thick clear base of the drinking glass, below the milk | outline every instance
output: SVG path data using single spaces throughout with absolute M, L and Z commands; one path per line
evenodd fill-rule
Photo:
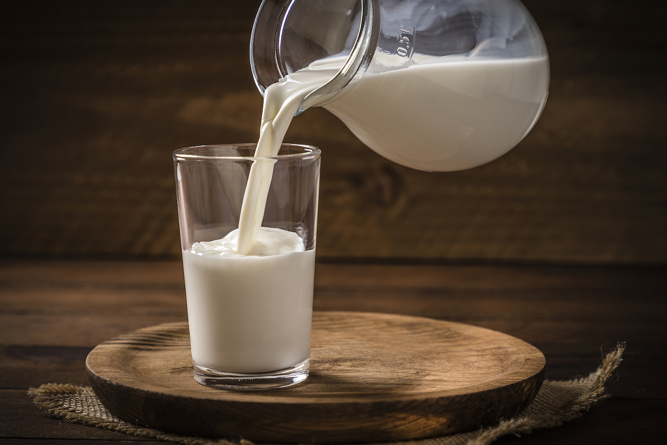
M 303 382 L 310 371 L 310 358 L 291 368 L 265 374 L 233 374 L 206 368 L 196 362 L 192 362 L 192 369 L 195 372 L 195 380 L 203 386 L 222 390 L 270 390 Z

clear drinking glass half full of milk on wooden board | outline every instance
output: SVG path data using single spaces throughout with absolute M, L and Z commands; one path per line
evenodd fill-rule
M 275 156 L 253 157 L 255 147 L 173 153 L 194 376 L 214 388 L 282 388 L 309 372 L 320 151 L 283 144 Z M 247 187 L 253 164 L 268 171 L 268 193 Z M 266 200 L 263 218 L 239 254 L 241 207 L 251 198 Z

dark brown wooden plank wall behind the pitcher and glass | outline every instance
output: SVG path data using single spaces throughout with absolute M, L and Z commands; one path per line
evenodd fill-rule
M 525 2 L 552 63 L 532 133 L 468 171 L 395 165 L 311 109 L 320 261 L 665 264 L 664 2 Z M 177 258 L 171 151 L 255 141 L 253 1 L 21 1 L 0 14 L 0 254 Z

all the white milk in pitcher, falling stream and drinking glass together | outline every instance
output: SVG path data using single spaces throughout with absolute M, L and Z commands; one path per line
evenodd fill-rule
M 548 61 L 546 57 L 450 60 L 364 77 L 326 108 L 346 122 L 362 141 L 382 147 L 385 152 L 381 153 L 390 159 L 401 159 L 405 149 L 419 144 L 422 151 L 426 148 L 424 152 L 432 153 L 431 158 L 421 159 L 425 162 L 436 163 L 439 157 L 460 153 L 468 162 L 484 163 L 489 160 L 484 147 L 490 147 L 492 153 L 499 144 L 512 147 L 532 127 L 530 117 L 538 113 L 546 99 L 540 82 L 548 78 Z M 266 89 L 256 159 L 249 171 L 239 228 L 221 240 L 195 243 L 191 250 L 183 252 L 185 279 L 192 296 L 188 298 L 191 336 L 202 333 L 201 339 L 193 342 L 199 345 L 192 350 L 197 363 L 253 373 L 294 366 L 309 355 L 311 298 L 303 296 L 312 296 L 315 251 L 306 251 L 297 234 L 263 228 L 261 221 L 275 163 L 271 156 L 277 154 L 303 98 L 331 79 L 342 63 L 344 58 L 317 61 Z M 516 82 L 504 91 L 494 89 L 508 75 Z M 378 89 L 387 85 L 394 87 L 398 99 L 406 104 L 404 110 L 392 107 L 396 97 L 383 98 L 378 94 Z M 455 119 L 454 115 L 458 117 Z M 382 131 L 368 132 L 369 125 L 376 130 L 386 125 L 403 125 L 414 131 L 406 131 L 404 137 L 383 138 Z M 419 128 L 424 125 L 436 125 L 438 131 L 420 133 Z M 474 147 L 466 151 L 466 145 Z M 236 282 L 253 280 L 256 292 L 231 302 L 245 310 L 219 308 L 230 304 L 217 298 L 223 292 L 221 286 L 229 293 Z M 277 280 L 289 283 L 283 286 L 285 292 L 280 296 L 275 295 L 273 286 Z M 255 310 L 275 301 L 283 304 L 274 311 Z M 211 320 L 211 314 L 239 313 L 251 314 L 252 320 L 219 316 Z M 260 314 L 265 316 L 258 320 Z M 263 326 L 273 332 L 271 342 L 256 341 L 259 334 L 249 326 Z M 207 328 L 215 328 L 218 335 L 203 334 L 210 332 Z M 245 334 L 240 336 L 240 332 Z M 239 338 L 245 340 L 240 342 Z M 285 338 L 303 341 L 290 343 Z M 220 342 L 225 342 L 224 348 Z M 258 344 L 262 345 L 261 351 L 257 350 Z

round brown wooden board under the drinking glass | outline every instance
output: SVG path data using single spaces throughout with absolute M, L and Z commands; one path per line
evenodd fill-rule
M 467 324 L 314 312 L 310 376 L 278 390 L 197 384 L 187 323 L 144 328 L 91 351 L 89 382 L 141 426 L 259 442 L 354 443 L 453 434 L 514 416 L 544 380 L 544 355 Z

